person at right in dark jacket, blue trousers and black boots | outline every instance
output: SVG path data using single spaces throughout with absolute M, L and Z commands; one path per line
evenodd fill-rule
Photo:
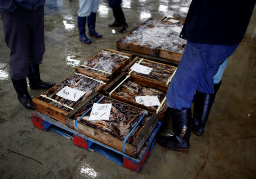
M 191 128 L 203 133 L 207 120 L 202 115 L 203 105 L 214 99 L 213 76 L 242 41 L 254 6 L 255 0 L 192 0 L 180 33 L 187 46 L 167 91 L 166 120 L 172 121 L 174 135 L 156 139 L 163 148 L 187 151 Z M 195 92 L 200 93 L 194 99 L 200 108 L 194 110 L 192 118 Z

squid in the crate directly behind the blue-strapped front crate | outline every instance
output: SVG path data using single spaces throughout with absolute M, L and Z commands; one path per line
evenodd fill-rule
M 138 83 L 132 82 L 131 80 L 126 80 L 124 83 L 121 84 L 113 92 L 113 94 L 122 96 L 123 98 L 129 99 L 131 101 L 135 101 L 136 96 L 158 96 L 160 103 L 163 101 L 164 97 L 166 96 L 166 92 L 157 90 L 151 87 L 144 87 Z M 150 106 L 151 108 L 157 109 L 158 106 Z

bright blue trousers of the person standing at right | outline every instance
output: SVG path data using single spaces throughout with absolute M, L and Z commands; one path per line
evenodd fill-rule
M 237 46 L 187 41 L 183 57 L 168 87 L 167 105 L 179 110 L 188 109 L 195 91 L 213 93 L 213 76 Z

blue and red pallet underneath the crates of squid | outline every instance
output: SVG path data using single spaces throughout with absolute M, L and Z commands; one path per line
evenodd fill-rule
M 31 121 L 35 127 L 38 127 L 41 130 L 53 130 L 56 133 L 63 135 L 65 138 L 73 140 L 77 146 L 83 147 L 90 151 L 99 152 L 100 154 L 105 155 L 108 159 L 134 172 L 141 171 L 145 160 L 149 156 L 152 147 L 154 146 L 156 133 L 161 125 L 161 122 L 157 123 L 155 129 L 152 131 L 150 137 L 148 137 L 137 157 L 131 157 L 121 151 L 107 146 L 104 143 L 98 142 L 97 140 L 79 133 L 78 131 L 67 127 L 64 123 L 54 120 L 43 113 L 33 112 L 31 114 Z

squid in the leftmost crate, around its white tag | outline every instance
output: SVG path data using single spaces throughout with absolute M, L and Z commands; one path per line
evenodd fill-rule
M 52 87 L 50 90 L 48 90 L 43 95 L 46 95 L 47 97 L 49 97 L 53 100 L 59 101 L 61 104 L 68 105 L 71 108 L 76 108 L 77 105 L 84 102 L 86 100 L 86 98 L 89 97 L 93 92 L 100 90 L 100 88 L 103 85 L 104 84 L 101 84 L 100 82 L 97 82 L 95 80 L 86 78 L 81 75 L 73 74 L 72 76 L 69 76 L 69 78 L 65 79 L 63 82 Z M 72 100 L 68 100 L 63 97 L 57 96 L 56 94 L 61 89 L 63 89 L 65 86 L 68 86 L 70 88 L 75 88 L 80 91 L 84 91 L 85 94 L 77 101 L 72 101 Z M 56 103 L 56 102 L 49 100 L 43 96 L 40 96 L 39 99 L 45 101 L 48 104 L 56 106 L 59 109 L 63 109 L 67 112 L 71 111 L 71 109 L 65 107 L 64 105 Z

